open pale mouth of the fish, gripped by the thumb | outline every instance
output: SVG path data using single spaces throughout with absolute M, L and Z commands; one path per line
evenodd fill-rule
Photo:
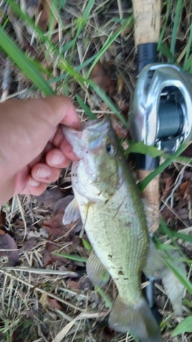
M 63 126 L 62 130 L 66 140 L 69 142 L 70 146 L 72 146 L 74 154 L 81 159 L 87 144 L 94 142 L 101 134 L 107 133 L 109 126 L 110 121 L 106 116 L 102 119 L 83 122 L 79 131 L 67 126 Z

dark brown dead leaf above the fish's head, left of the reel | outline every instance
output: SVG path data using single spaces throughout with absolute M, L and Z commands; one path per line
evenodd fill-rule
M 94 81 L 98 86 L 100 86 L 102 90 L 105 90 L 107 94 L 115 92 L 115 81 L 111 79 L 111 77 L 109 76 L 107 71 L 104 70 L 100 62 L 96 63 L 90 77 L 92 81 Z

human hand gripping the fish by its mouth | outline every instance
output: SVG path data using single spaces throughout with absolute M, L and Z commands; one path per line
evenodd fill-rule
M 80 126 L 65 96 L 0 104 L 0 205 L 17 194 L 42 194 L 61 168 L 78 160 L 59 124 Z

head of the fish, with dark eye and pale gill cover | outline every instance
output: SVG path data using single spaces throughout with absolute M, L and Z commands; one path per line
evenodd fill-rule
M 85 122 L 80 131 L 64 127 L 64 135 L 79 157 L 72 187 L 93 201 L 111 198 L 122 184 L 122 151 L 109 118 Z

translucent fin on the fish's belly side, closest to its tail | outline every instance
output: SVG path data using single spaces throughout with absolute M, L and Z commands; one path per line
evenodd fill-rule
M 94 285 L 103 286 L 109 281 L 110 275 L 102 262 L 92 250 L 86 264 L 87 276 L 90 278 Z

